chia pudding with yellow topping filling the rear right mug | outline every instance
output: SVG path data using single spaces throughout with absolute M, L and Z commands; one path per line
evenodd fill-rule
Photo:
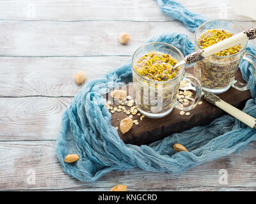
M 223 29 L 212 29 L 202 33 L 197 39 L 199 45 L 195 50 L 204 49 L 222 40 L 230 38 L 234 33 Z M 241 60 L 242 46 L 236 45 L 222 50 L 214 55 L 195 62 L 195 77 L 200 80 L 202 87 L 207 89 L 223 89 L 234 81 L 239 62 Z

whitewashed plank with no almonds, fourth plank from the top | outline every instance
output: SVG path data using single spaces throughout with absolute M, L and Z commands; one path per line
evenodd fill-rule
M 54 140 L 72 98 L 0 98 L 0 140 Z M 1 168 L 0 168 L 1 169 Z

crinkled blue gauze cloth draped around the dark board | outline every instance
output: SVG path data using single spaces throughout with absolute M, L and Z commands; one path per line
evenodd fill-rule
M 204 22 L 200 15 L 188 11 L 177 1 L 157 1 L 161 10 L 181 20 L 189 30 Z M 170 43 L 184 54 L 193 52 L 194 45 L 186 34 L 167 33 L 149 41 Z M 254 46 L 246 48 L 256 54 Z M 252 66 L 241 61 L 244 80 L 253 81 Z M 125 144 L 111 126 L 111 113 L 102 97 L 115 86 L 131 82 L 131 60 L 109 71 L 104 77 L 84 85 L 63 113 L 61 129 L 56 142 L 56 156 L 65 173 L 81 181 L 99 179 L 109 171 L 123 171 L 139 167 L 145 171 L 182 173 L 193 166 L 212 161 L 221 156 L 238 152 L 256 133 L 230 115 L 223 115 L 207 126 L 195 127 L 182 133 L 172 134 L 150 145 Z M 252 99 L 246 102 L 243 111 L 256 117 L 255 86 L 250 89 Z M 175 152 L 174 143 L 181 143 L 189 152 Z M 65 163 L 67 154 L 78 154 L 76 163 Z

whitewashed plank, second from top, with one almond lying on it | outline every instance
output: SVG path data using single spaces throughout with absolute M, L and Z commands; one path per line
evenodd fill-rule
M 238 22 L 251 27 L 255 22 Z M 99 29 L 100 28 L 100 29 Z M 132 55 L 148 38 L 161 33 L 194 34 L 180 22 L 0 22 L 0 55 L 92 56 Z M 118 34 L 131 34 L 127 45 Z

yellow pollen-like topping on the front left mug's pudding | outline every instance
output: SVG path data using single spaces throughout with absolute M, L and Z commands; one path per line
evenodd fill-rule
M 172 80 L 179 73 L 179 67 L 173 70 L 177 61 L 170 55 L 161 52 L 148 52 L 140 57 L 135 69 L 142 76 L 152 81 Z

